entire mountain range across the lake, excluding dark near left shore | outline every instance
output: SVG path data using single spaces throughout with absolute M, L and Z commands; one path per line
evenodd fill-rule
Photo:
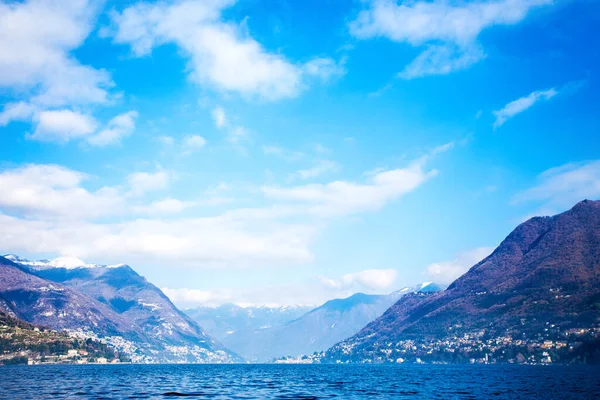
M 600 201 L 522 223 L 445 290 L 183 313 L 128 265 L 7 254 L 0 313 L 134 362 L 600 362 Z

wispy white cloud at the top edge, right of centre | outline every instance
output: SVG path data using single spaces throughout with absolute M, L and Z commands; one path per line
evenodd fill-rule
M 450 3 L 445 1 L 371 0 L 350 32 L 358 39 L 386 37 L 426 50 L 409 64 L 400 77 L 411 79 L 448 74 L 485 57 L 479 34 L 494 25 L 523 20 L 530 9 L 552 0 L 495 0 Z

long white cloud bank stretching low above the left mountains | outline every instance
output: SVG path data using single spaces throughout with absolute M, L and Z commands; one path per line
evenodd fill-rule
M 270 205 L 202 217 L 194 215 L 192 207 L 222 204 L 222 192 L 229 185 L 208 190 L 206 198 L 149 198 L 147 202 L 143 196 L 168 187 L 169 172 L 137 172 L 127 176 L 126 184 L 89 190 L 84 184 L 93 182 L 80 172 L 26 166 L 0 174 L 0 187 L 8 189 L 0 193 L 0 226 L 5 232 L 0 233 L 0 248 L 108 264 L 159 266 L 176 259 L 182 268 L 307 263 L 312 260 L 312 240 L 326 224 L 321 217 L 383 207 L 435 175 L 423 164 L 382 171 L 366 183 L 265 187 L 262 193 L 274 200 Z M 142 215 L 146 217 L 138 218 Z M 104 218 L 109 216 L 118 219 Z M 364 287 L 380 285 L 365 274 L 354 280 Z

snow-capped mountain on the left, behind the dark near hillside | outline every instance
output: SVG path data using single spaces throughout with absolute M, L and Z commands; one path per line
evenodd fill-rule
M 124 264 L 0 257 L 0 307 L 34 324 L 100 338 L 134 361 L 238 360 Z

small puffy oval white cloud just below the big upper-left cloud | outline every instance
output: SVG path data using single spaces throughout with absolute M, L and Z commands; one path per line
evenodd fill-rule
M 91 135 L 98 126 L 93 117 L 71 110 L 42 111 L 35 120 L 37 126 L 29 137 L 40 141 L 67 142 Z

